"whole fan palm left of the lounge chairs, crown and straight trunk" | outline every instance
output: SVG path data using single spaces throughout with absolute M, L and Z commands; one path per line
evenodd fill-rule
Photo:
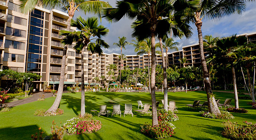
M 76 27 L 79 31 L 60 31 L 60 35 L 66 36 L 62 39 L 62 43 L 72 44 L 76 42 L 74 49 L 78 52 L 82 52 L 81 55 L 81 116 L 85 115 L 85 79 L 83 74 L 83 53 L 85 49 L 90 50 L 92 53 L 98 53 L 101 55 L 103 50 L 101 47 L 108 48 L 109 45 L 102 40 L 102 36 L 105 36 L 108 33 L 108 29 L 103 25 L 98 25 L 98 18 L 92 17 L 88 19 L 83 19 L 81 16 L 76 18 L 76 20 L 71 20 L 72 27 Z M 92 42 L 95 40 L 95 42 Z

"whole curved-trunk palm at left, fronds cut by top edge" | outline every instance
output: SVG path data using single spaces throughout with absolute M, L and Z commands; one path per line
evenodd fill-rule
M 23 13 L 32 11 L 35 6 L 45 7 L 49 9 L 62 8 L 69 15 L 67 31 L 70 31 L 71 19 L 75 15 L 75 11 L 82 11 L 84 13 L 93 13 L 100 16 L 102 7 L 111 7 L 108 2 L 98 0 L 20 0 L 20 8 Z M 67 46 L 63 48 L 60 81 L 56 99 L 53 105 L 46 112 L 55 112 L 58 109 L 63 92 L 65 67 L 66 67 L 66 53 Z

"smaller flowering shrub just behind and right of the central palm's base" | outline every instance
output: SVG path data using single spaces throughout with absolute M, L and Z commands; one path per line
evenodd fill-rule
M 173 111 L 166 111 L 165 109 L 161 109 L 157 112 L 157 120 L 161 121 L 175 121 L 178 120 L 178 116 Z

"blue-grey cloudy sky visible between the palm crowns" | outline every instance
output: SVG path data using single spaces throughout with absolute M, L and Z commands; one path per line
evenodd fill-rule
M 103 0 L 108 1 L 109 4 L 111 4 L 112 7 L 115 7 L 115 1 L 116 0 Z M 83 13 L 77 12 L 75 13 L 75 17 L 78 15 L 81 15 L 84 18 L 88 18 L 92 15 L 85 15 Z M 117 46 L 114 46 L 114 42 L 118 42 L 118 37 L 125 36 L 127 38 L 128 42 L 131 42 L 133 39 L 131 37 L 132 29 L 131 24 L 133 20 L 129 20 L 128 18 L 122 18 L 120 21 L 116 23 L 110 23 L 106 21 L 105 19 L 102 19 L 101 24 L 104 25 L 109 29 L 108 35 L 103 37 L 108 44 L 109 48 L 105 49 L 103 48 L 105 53 L 121 53 L 120 48 Z M 251 33 L 256 32 L 256 2 L 246 3 L 246 11 L 244 11 L 242 14 L 233 14 L 230 16 L 227 16 L 220 20 L 203 20 L 203 26 L 202 26 L 202 33 L 204 35 L 213 35 L 214 37 L 224 37 L 224 36 L 231 36 L 233 34 L 244 34 L 244 33 Z M 194 24 L 190 25 L 193 30 L 193 36 L 190 39 L 186 38 L 174 38 L 175 42 L 179 42 L 180 45 L 178 46 L 178 49 L 181 50 L 182 46 L 187 46 L 191 44 L 198 43 L 198 36 L 197 36 L 197 28 Z M 122 50 L 122 53 L 124 55 L 135 55 L 134 52 L 134 46 L 127 45 L 126 50 Z M 171 52 L 172 50 L 169 50 L 168 52 Z

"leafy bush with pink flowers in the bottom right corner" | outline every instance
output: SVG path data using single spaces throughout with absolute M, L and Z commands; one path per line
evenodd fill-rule
M 244 125 L 237 125 L 237 122 L 223 122 L 224 130 L 222 135 L 234 140 L 255 140 L 256 124 L 243 122 Z

